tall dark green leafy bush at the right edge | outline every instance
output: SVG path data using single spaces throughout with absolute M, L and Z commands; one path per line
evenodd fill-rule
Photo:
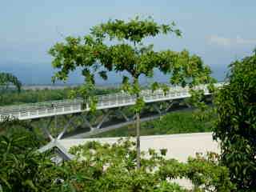
M 230 65 L 228 83 L 214 98 L 218 113 L 214 137 L 222 162 L 239 191 L 256 189 L 256 51 Z

